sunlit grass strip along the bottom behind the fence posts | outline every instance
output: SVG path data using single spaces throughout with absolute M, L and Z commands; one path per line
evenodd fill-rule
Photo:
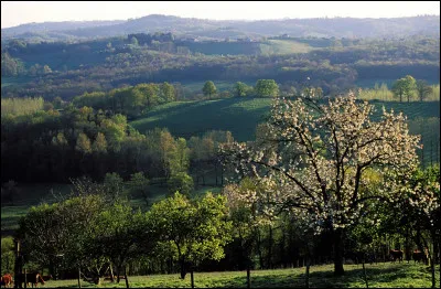
M 333 276 L 333 265 L 311 266 L 311 288 L 366 288 L 361 265 L 345 265 L 344 277 Z M 438 269 L 439 270 L 439 269 Z M 247 288 L 246 271 L 194 272 L 195 288 Z M 366 265 L 369 288 L 430 288 L 429 268 L 420 264 Z M 191 288 L 190 274 L 184 280 L 178 274 L 129 276 L 130 288 Z M 77 280 L 50 280 L 44 288 L 76 288 Z M 103 281 L 99 287 L 82 281 L 85 288 L 126 288 L 120 283 Z M 305 268 L 251 270 L 251 288 L 304 288 Z

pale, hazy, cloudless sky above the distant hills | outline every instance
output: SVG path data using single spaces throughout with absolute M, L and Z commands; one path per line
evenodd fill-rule
M 397 18 L 440 14 L 440 1 L 1 1 L 1 28 L 30 22 L 127 20 L 166 14 L 213 20 Z

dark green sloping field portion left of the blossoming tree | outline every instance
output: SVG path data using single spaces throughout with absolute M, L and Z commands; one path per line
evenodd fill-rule
M 166 127 L 173 136 L 190 138 L 208 130 L 229 130 L 245 141 L 255 136 L 256 125 L 269 113 L 269 98 L 228 98 L 203 101 L 178 101 L 154 108 L 147 118 L 131 121 L 141 133 Z

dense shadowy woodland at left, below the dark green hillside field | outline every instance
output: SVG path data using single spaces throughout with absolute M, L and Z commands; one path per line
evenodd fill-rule
M 28 103 L 34 105 L 32 99 Z M 2 182 L 66 182 L 80 175 L 103 180 L 107 172 L 127 180 L 143 172 L 168 182 L 172 192 L 182 185 L 185 191 L 193 188 L 189 170 L 198 178 L 213 171 L 220 175 L 214 150 L 219 141 L 233 140 L 230 132 L 223 131 L 208 132 L 204 141 L 194 137 L 189 144 L 166 129 L 141 135 L 121 114 L 72 105 L 61 111 L 2 115 L 1 128 Z M 203 150 L 207 153 L 201 154 Z M 209 169 L 198 171 L 200 162 L 209 163 Z

